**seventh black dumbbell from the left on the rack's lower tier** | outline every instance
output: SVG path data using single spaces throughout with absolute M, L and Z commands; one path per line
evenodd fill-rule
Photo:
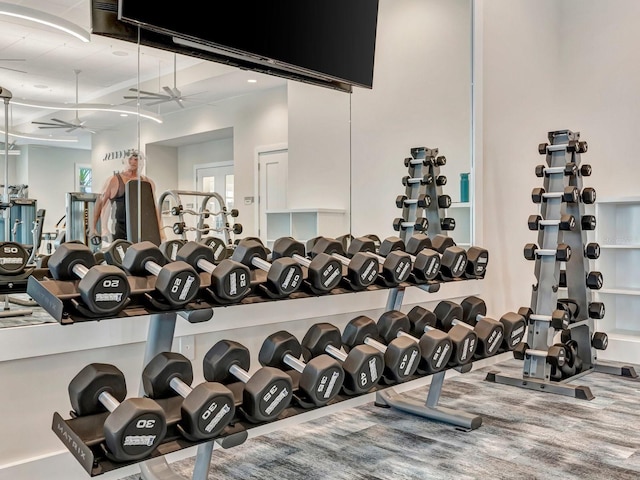
M 449 335 L 438 329 L 422 329 L 414 332 L 409 315 L 399 310 L 388 310 L 378 319 L 377 327 L 380 336 L 391 343 L 395 338 L 407 337 L 416 342 L 420 349 L 420 362 L 417 372 L 429 375 L 439 372 L 447 367 L 453 344 Z

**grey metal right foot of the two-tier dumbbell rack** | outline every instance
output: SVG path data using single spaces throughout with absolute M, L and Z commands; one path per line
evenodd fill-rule
M 403 398 L 393 388 L 376 392 L 375 405 L 379 407 L 391 407 L 397 410 L 418 415 L 420 417 L 436 420 L 438 422 L 449 423 L 464 430 L 475 430 L 482 425 L 482 417 L 473 415 L 453 408 L 438 406 L 438 399 L 442 390 L 445 372 L 438 372 L 433 376 L 426 403 L 422 404 L 415 400 Z

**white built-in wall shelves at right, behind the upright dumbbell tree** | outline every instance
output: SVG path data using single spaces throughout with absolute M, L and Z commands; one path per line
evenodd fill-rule
M 608 197 L 595 204 L 595 241 L 600 258 L 603 288 L 595 300 L 605 305 L 605 316 L 596 329 L 609 337 L 602 359 L 636 362 L 640 359 L 640 196 Z

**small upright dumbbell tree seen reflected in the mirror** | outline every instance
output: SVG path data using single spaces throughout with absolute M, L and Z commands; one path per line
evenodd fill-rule
M 447 160 L 438 153 L 437 148 L 414 147 L 411 149 L 411 157 L 404 160 L 409 170 L 409 176 L 405 179 L 413 180 L 403 181 L 406 199 L 411 203 L 402 204 L 402 219 L 414 224 L 413 227 L 400 229 L 399 236 L 405 242 L 416 230 L 415 223 L 420 217 L 419 210 L 424 212 L 423 217 L 427 219 L 427 228 L 431 236 L 455 228 L 455 220 L 446 217 L 445 212 L 445 209 L 451 206 L 451 197 L 442 191 L 442 186 L 447 183 L 447 177 L 440 175 L 440 167 L 445 165 Z M 398 206 L 400 206 L 400 197 L 397 201 Z M 425 199 L 424 206 L 418 205 L 418 198 Z

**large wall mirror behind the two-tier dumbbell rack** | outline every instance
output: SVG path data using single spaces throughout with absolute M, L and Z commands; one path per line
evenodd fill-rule
M 29 7 L 91 28 L 90 0 Z M 45 232 L 60 228 L 69 192 L 100 191 L 123 167 L 123 152 L 139 148 L 157 195 L 213 188 L 238 210 L 241 236 L 384 238 L 397 234 L 403 159 L 425 146 L 447 158 L 443 188 L 458 221 L 451 234 L 471 242 L 460 178 L 471 172 L 472 0 L 380 0 L 374 86 L 351 94 L 97 35 L 85 44 L 1 15 L 0 22 L 0 86 L 13 94 L 9 131 L 40 137 L 9 137 L 7 183 L 28 185 L 27 196 L 46 210 Z M 130 112 L 45 110 L 19 99 Z M 69 138 L 76 141 L 59 142 Z M 184 195 L 185 208 L 198 202 Z M 174 219 L 167 214 L 163 223 Z M 28 222 L 22 228 L 31 230 Z

